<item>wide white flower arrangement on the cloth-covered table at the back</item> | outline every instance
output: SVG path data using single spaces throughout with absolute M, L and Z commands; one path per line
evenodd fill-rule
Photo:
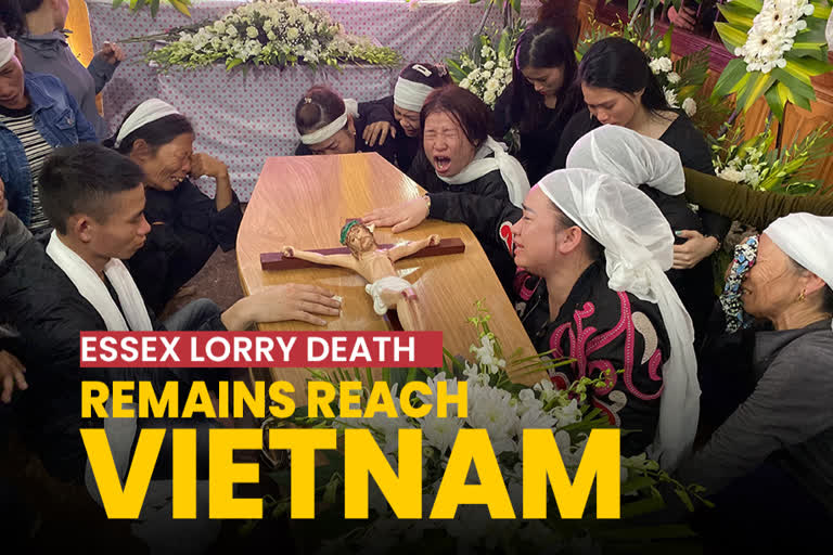
M 291 1 L 259 0 L 243 4 L 215 22 L 137 40 L 166 40 L 146 57 L 163 69 L 187 68 L 225 62 L 228 70 L 239 65 L 296 64 L 337 66 L 339 62 L 395 65 L 394 50 L 367 37 L 344 31 L 323 10 Z

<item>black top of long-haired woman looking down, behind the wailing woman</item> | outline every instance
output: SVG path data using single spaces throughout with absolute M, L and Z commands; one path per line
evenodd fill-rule
M 537 183 L 549 173 L 550 163 L 555 153 L 561 135 L 571 118 L 585 107 L 581 94 L 565 94 L 563 106 L 548 108 L 543 105 L 543 98 L 539 100 L 540 119 L 533 129 L 524 129 L 516 117 L 512 115 L 512 87 L 498 96 L 495 103 L 495 134 L 503 137 L 512 128 L 518 129 L 521 146 L 514 156 L 521 162 L 529 177 L 529 183 Z

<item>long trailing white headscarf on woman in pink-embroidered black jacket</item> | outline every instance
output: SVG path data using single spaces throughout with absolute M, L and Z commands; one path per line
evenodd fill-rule
M 674 260 L 674 235 L 663 214 L 639 189 L 587 169 L 564 169 L 538 186 L 561 211 L 604 247 L 607 285 L 659 308 L 670 354 L 663 365 L 659 424 L 649 453 L 676 468 L 694 440 L 700 385 L 694 327 L 665 275 Z

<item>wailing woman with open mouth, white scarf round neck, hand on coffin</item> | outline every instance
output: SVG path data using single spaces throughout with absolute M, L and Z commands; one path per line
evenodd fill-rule
M 464 221 L 460 205 L 478 197 L 508 201 L 520 206 L 529 191 L 523 166 L 504 152 L 505 145 L 489 135 L 488 106 L 457 86 L 432 92 L 420 113 L 423 149 L 408 176 L 427 194 L 400 206 L 377 208 L 364 223 L 409 230 L 426 218 Z M 483 215 L 486 217 L 486 215 Z M 491 248 L 479 237 L 495 271 L 509 287 L 512 262 L 504 249 Z

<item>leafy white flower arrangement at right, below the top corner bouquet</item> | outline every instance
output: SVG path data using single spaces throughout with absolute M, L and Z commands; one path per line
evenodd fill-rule
M 794 195 L 828 192 L 831 186 L 823 186 L 810 176 L 830 154 L 833 146 L 831 131 L 831 124 L 822 124 L 792 146 L 773 149 L 777 133 L 771 126 L 744 140 L 743 120 L 739 120 L 729 131 L 712 139 L 715 171 L 722 179 L 758 191 Z

